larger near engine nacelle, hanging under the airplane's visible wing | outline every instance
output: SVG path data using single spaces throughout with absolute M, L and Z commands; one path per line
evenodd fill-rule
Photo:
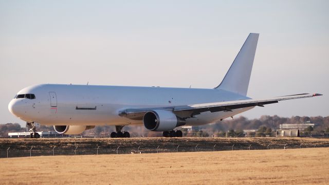
M 145 128 L 149 131 L 172 131 L 177 126 L 185 125 L 186 121 L 168 110 L 151 110 L 143 117 Z

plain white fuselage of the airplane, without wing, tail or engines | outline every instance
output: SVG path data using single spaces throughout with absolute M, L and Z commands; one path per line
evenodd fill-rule
M 143 124 L 142 120 L 119 116 L 120 110 L 250 99 L 219 89 L 58 84 L 26 87 L 17 93 L 21 94 L 33 94 L 35 99 L 12 99 L 10 112 L 27 122 L 45 125 Z M 201 113 L 186 119 L 186 125 L 213 123 L 251 108 Z

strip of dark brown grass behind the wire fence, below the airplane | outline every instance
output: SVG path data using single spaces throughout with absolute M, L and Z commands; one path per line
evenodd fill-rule
M 329 138 L 197 138 L 197 137 L 183 137 L 183 138 L 51 138 L 51 139 L 0 139 L 0 150 L 22 149 L 29 150 L 32 146 L 33 149 L 52 149 L 56 146 L 59 148 L 75 149 L 79 148 L 95 149 L 100 148 L 113 148 L 116 149 L 119 145 L 121 147 L 176 147 L 191 146 L 194 147 L 198 144 L 199 147 L 210 146 L 271 146 L 283 145 L 287 146 L 303 144 L 303 147 L 312 146 L 317 144 L 317 147 L 329 147 Z

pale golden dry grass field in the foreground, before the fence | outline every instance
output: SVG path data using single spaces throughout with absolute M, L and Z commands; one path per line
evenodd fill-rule
M 0 159 L 1 184 L 329 184 L 329 148 Z M 32 180 L 33 179 L 33 180 Z

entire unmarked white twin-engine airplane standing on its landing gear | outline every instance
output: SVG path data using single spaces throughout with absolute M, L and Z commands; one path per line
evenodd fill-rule
M 95 125 L 115 125 L 111 137 L 130 137 L 125 125 L 144 125 L 165 137 L 182 137 L 176 127 L 215 123 L 255 106 L 320 94 L 298 94 L 268 99 L 247 97 L 258 42 L 250 33 L 222 83 L 213 89 L 100 85 L 41 84 L 26 87 L 8 105 L 9 111 L 32 127 L 54 125 L 60 134 L 81 134 Z

